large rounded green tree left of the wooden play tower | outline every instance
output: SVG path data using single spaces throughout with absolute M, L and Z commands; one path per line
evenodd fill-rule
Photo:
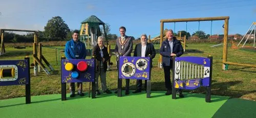
M 48 38 L 64 39 L 68 32 L 70 32 L 70 29 L 60 16 L 52 17 L 45 26 L 45 36 Z

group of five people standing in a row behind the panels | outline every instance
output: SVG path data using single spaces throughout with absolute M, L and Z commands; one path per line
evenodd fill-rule
M 119 28 L 120 37 L 116 39 L 115 46 L 115 55 L 117 57 L 117 68 L 118 68 L 118 57 L 119 56 L 132 56 L 131 53 L 133 51 L 133 37 L 126 36 L 126 28 Z M 66 43 L 65 55 L 68 59 L 85 59 L 86 58 L 86 47 L 84 43 L 79 41 L 79 32 L 77 30 L 74 31 L 72 35 L 73 39 Z M 136 44 L 134 50 L 134 57 L 150 57 L 151 59 L 155 58 L 156 51 L 154 45 L 152 43 L 148 43 L 147 35 L 142 34 L 141 43 Z M 103 36 L 99 36 L 97 40 L 97 44 L 93 47 L 93 57 L 96 59 L 96 94 L 100 95 L 100 91 L 98 89 L 98 78 L 100 77 L 102 91 L 104 93 L 112 93 L 108 87 L 106 86 L 106 69 L 108 68 L 107 62 L 110 59 L 110 55 L 106 46 L 103 45 Z M 174 37 L 173 30 L 168 30 L 166 32 L 166 39 L 162 42 L 161 48 L 159 50 L 160 55 L 163 56 L 162 64 L 164 68 L 164 79 L 165 79 L 165 87 L 166 93 L 165 95 L 172 94 L 172 84 L 170 82 L 170 70 L 173 68 L 173 56 L 181 56 L 183 54 L 183 48 L 181 42 Z M 151 64 L 152 65 L 152 64 Z M 130 94 L 130 79 L 125 79 L 125 95 Z M 146 88 L 146 80 L 145 85 Z M 84 96 L 82 93 L 82 83 L 77 83 L 78 95 Z M 146 89 L 145 89 L 146 90 Z M 142 91 L 142 80 L 137 80 L 137 89 L 133 91 L 133 93 L 138 93 Z M 70 83 L 70 97 L 75 96 L 75 84 Z M 117 90 L 115 91 L 117 93 Z M 177 90 L 177 95 L 183 98 L 181 89 Z

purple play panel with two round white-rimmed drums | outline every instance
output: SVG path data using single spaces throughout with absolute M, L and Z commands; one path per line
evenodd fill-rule
M 150 57 L 119 57 L 119 78 L 150 80 Z

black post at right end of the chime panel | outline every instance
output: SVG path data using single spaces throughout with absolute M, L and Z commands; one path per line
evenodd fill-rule
M 208 56 L 207 58 L 210 59 L 210 80 L 209 80 L 209 86 L 206 86 L 205 89 L 206 89 L 206 93 L 205 93 L 205 102 L 207 103 L 210 103 L 210 95 L 211 95 L 211 79 L 212 79 L 212 59 L 213 57 L 211 56 Z

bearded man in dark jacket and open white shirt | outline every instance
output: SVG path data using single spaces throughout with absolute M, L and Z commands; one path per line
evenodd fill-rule
M 136 44 L 134 50 L 134 57 L 150 57 L 151 58 L 151 67 L 152 67 L 152 59 L 156 56 L 156 51 L 154 45 L 152 43 L 147 43 L 146 34 L 142 34 L 140 37 L 141 43 Z M 146 90 L 146 80 L 145 80 L 145 90 Z M 133 93 L 141 92 L 142 89 L 142 80 L 137 80 L 137 90 L 133 91 Z

